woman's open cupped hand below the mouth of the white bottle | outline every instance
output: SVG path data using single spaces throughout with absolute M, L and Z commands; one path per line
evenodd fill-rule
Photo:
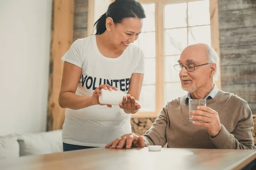
M 127 100 L 126 100 L 127 98 Z M 141 108 L 140 102 L 136 100 L 133 96 L 130 94 L 127 94 L 123 97 L 122 103 L 119 104 L 119 107 L 124 110 L 125 113 L 137 113 L 139 109 Z

